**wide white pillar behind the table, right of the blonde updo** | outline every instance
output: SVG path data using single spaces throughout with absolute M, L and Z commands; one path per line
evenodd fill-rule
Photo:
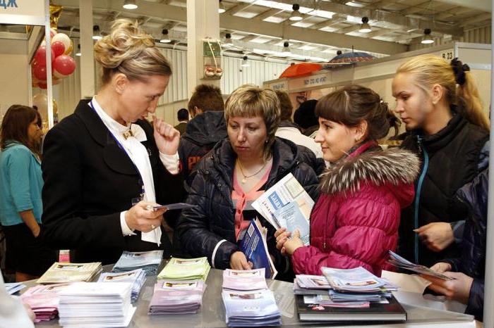
M 190 98 L 198 84 L 213 84 L 219 80 L 200 80 L 203 77 L 203 39 L 219 39 L 219 1 L 187 0 L 187 94 Z

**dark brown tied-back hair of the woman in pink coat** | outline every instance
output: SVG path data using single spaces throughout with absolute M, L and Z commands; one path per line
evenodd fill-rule
M 349 85 L 327 94 L 315 106 L 315 115 L 347 127 L 356 127 L 365 120 L 369 140 L 386 137 L 391 127 L 396 135 L 399 128 L 399 120 L 387 108 L 387 103 L 373 90 L 360 85 Z

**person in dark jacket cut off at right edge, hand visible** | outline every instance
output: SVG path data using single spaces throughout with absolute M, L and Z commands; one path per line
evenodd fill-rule
M 469 209 L 462 239 L 462 257 L 443 260 L 431 269 L 454 280 L 424 278 L 433 282 L 428 288 L 466 304 L 466 313 L 483 320 L 483 288 L 486 270 L 488 170 L 459 189 L 457 196 Z

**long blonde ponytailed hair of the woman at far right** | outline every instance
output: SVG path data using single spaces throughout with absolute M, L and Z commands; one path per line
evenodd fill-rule
M 474 125 L 489 130 L 489 120 L 483 113 L 478 89 L 470 72 L 464 72 L 464 82 L 457 84 L 452 65 L 432 54 L 416 56 L 406 61 L 397 69 L 399 73 L 411 73 L 415 83 L 424 92 L 430 94 L 434 84 L 445 89 L 446 100 L 450 104 L 461 102 L 464 117 Z

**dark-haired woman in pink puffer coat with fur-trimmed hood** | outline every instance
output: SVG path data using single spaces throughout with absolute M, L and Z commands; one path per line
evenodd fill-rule
M 331 163 L 320 180 L 311 213 L 311 245 L 299 232 L 279 229 L 277 248 L 291 256 L 296 274 L 321 275 L 321 267 L 364 267 L 380 276 L 387 251 L 397 246 L 399 216 L 414 199 L 419 160 L 403 149 L 383 151 L 398 120 L 371 89 L 351 85 L 318 101 L 315 141 Z

